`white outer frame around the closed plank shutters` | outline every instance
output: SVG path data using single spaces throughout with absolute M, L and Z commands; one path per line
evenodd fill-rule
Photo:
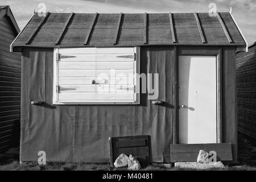
M 89 47 L 88 47 L 89 48 Z M 114 48 L 114 47 L 111 47 Z M 120 47 L 122 48 L 122 47 Z M 140 78 L 137 75 L 140 75 L 140 64 L 141 64 L 141 50 L 140 47 L 134 48 L 134 101 L 133 102 L 125 102 L 125 101 L 59 101 L 59 55 L 60 49 L 56 47 L 53 49 L 53 97 L 52 104 L 53 105 L 138 105 L 141 104 L 140 101 Z M 76 49 L 76 48 L 73 48 Z

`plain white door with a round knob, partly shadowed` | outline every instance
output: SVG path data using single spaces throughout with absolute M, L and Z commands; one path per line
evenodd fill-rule
M 216 56 L 179 56 L 179 143 L 217 143 Z

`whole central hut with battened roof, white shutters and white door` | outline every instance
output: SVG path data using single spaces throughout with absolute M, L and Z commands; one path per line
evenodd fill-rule
M 22 52 L 21 161 L 44 151 L 104 163 L 109 137 L 133 135 L 151 136 L 151 162 L 195 161 L 200 149 L 237 161 L 246 41 L 232 14 L 40 15 L 11 44 Z

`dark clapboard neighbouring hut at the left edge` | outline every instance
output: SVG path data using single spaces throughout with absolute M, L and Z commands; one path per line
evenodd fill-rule
M 19 27 L 9 6 L 0 6 L 0 152 L 18 146 L 21 54 L 10 52 Z

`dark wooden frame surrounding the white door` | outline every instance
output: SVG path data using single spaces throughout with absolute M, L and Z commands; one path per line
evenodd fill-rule
M 176 47 L 174 83 L 173 143 L 179 143 L 179 56 L 216 56 L 217 76 L 217 143 L 222 143 L 222 49 L 217 47 Z

